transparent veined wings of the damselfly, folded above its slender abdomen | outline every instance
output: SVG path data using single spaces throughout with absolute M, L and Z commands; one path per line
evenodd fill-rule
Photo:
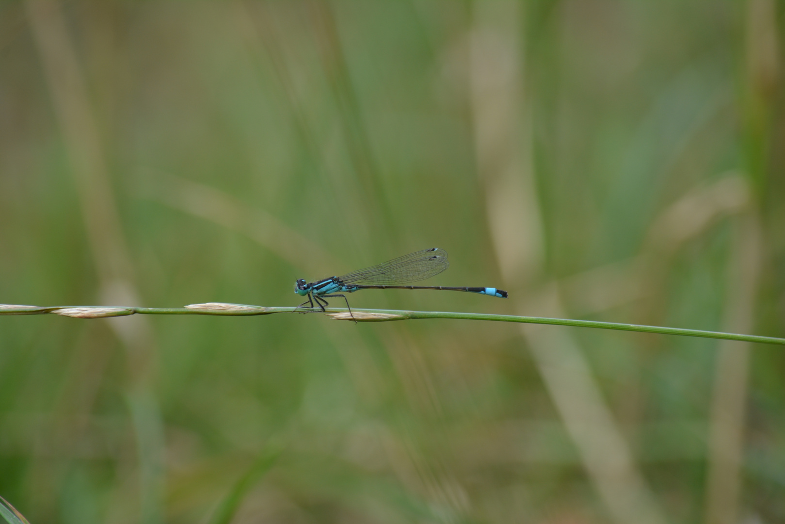
M 344 284 L 396 285 L 438 275 L 450 266 L 447 251 L 432 247 L 338 277 Z

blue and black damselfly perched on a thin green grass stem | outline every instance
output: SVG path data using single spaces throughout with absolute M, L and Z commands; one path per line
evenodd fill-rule
M 393 258 L 387 262 L 382 262 L 378 266 L 371 266 L 345 274 L 343 277 L 323 278 L 308 284 L 305 284 L 305 280 L 299 279 L 294 284 L 294 292 L 308 297 L 308 300 L 301 303 L 298 307 L 309 304 L 309 307 L 313 308 L 313 303 L 316 302 L 316 306 L 322 311 L 324 311 L 324 306 L 329 306 L 325 299 L 341 297 L 346 301 L 349 314 L 352 313 L 352 308 L 349 307 L 349 300 L 346 299 L 346 295 L 341 295 L 341 293 L 353 293 L 360 289 L 440 289 L 444 291 L 468 291 L 469 293 L 495 296 L 499 299 L 507 298 L 507 291 L 497 288 L 444 288 L 442 286 L 400 285 L 433 277 L 447 269 L 448 266 L 450 266 L 450 262 L 447 262 L 447 251 L 438 247 L 432 247 Z

